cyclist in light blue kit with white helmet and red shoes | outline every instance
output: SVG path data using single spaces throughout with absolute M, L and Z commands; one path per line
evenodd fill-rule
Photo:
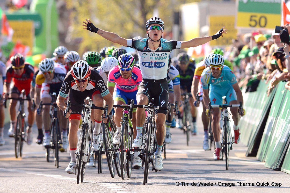
M 237 83 L 235 74 L 233 71 L 224 65 L 224 57 L 220 54 L 211 54 L 208 58 L 209 67 L 204 69 L 201 75 L 201 83 L 203 90 L 203 100 L 206 106 L 206 114 L 210 116 L 209 102 L 215 105 L 222 105 L 222 97 L 226 96 L 226 101 L 230 104 L 239 104 L 243 101 L 242 91 Z M 210 85 L 210 88 L 209 86 Z M 215 152 L 213 158 L 215 160 L 221 159 L 221 142 L 220 142 L 220 109 L 213 109 L 213 136 L 215 139 Z M 240 130 L 238 124 L 240 121 L 240 115 L 244 116 L 243 112 L 238 112 L 238 108 L 231 108 L 234 121 L 234 140 L 235 143 L 240 141 Z M 240 115 L 239 115 L 240 114 Z

